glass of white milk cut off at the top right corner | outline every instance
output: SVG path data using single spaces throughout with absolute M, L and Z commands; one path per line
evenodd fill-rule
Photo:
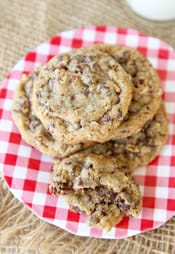
M 126 0 L 140 16 L 155 21 L 175 19 L 175 0 Z

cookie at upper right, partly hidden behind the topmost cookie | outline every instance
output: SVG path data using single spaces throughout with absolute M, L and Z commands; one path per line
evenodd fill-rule
M 132 78 L 133 97 L 128 113 L 111 139 L 131 136 L 152 119 L 160 106 L 162 87 L 159 76 L 149 60 L 135 49 L 103 44 L 92 47 L 113 57 Z

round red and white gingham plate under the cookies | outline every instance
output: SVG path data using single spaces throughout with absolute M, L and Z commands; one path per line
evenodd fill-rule
M 13 91 L 23 73 L 47 62 L 59 52 L 94 43 L 133 47 L 156 67 L 164 88 L 170 135 L 161 155 L 135 172 L 143 195 L 138 219 L 125 217 L 111 232 L 89 228 L 86 216 L 73 213 L 48 191 L 51 158 L 22 140 L 11 119 Z M 0 165 L 11 192 L 40 218 L 81 236 L 123 238 L 157 228 L 175 215 L 175 51 L 166 43 L 126 28 L 91 26 L 67 31 L 23 57 L 3 82 L 0 92 Z

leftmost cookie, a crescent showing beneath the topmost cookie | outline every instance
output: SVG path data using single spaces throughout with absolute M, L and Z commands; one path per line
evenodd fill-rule
M 32 107 L 33 82 L 39 74 L 40 68 L 24 75 L 14 93 L 12 118 L 23 139 L 40 152 L 48 156 L 64 157 L 85 147 L 86 144 L 66 145 L 56 141 L 35 116 Z

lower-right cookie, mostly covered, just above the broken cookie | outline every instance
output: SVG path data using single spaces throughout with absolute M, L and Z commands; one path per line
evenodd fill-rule
M 114 156 L 131 169 L 146 166 L 160 154 L 168 138 L 168 120 L 165 106 L 161 106 L 152 120 L 147 121 L 138 132 L 125 139 L 96 144 L 84 150 L 85 153 Z

